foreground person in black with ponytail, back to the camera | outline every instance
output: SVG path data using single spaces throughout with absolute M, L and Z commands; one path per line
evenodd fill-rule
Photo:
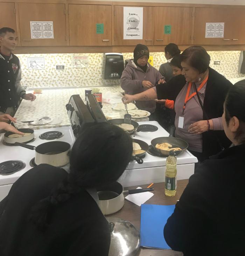
M 47 164 L 23 174 L 0 202 L 0 255 L 107 256 L 109 225 L 95 188 L 116 181 L 132 151 L 126 132 L 100 123 L 75 141 L 69 174 Z

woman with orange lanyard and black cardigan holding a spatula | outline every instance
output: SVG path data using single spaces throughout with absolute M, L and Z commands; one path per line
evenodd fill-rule
M 175 137 L 186 140 L 188 150 L 200 162 L 231 144 L 223 131 L 221 116 L 232 84 L 210 68 L 209 63 L 210 56 L 203 47 L 191 46 L 181 54 L 182 75 L 173 77 L 164 86 L 125 95 L 127 102 L 155 98 L 174 100 Z

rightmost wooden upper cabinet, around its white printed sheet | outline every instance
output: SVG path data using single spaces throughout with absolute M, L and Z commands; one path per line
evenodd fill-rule
M 206 22 L 224 22 L 223 38 L 205 38 Z M 194 44 L 245 44 L 245 8 L 195 8 Z

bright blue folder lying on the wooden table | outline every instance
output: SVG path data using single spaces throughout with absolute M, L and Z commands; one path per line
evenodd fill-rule
M 163 228 L 174 208 L 175 205 L 141 205 L 140 246 L 171 249 L 164 239 Z

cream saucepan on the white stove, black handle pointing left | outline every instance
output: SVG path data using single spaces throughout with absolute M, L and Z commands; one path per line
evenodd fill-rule
M 15 142 L 15 145 L 35 150 L 35 164 L 49 164 L 61 167 L 69 163 L 71 145 L 64 141 L 49 141 L 37 147 Z

